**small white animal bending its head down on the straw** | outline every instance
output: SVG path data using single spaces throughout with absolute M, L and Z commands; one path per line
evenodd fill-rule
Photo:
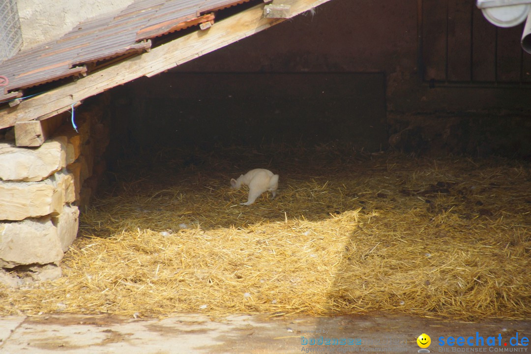
M 251 205 L 265 191 L 271 192 L 273 198 L 275 197 L 278 188 L 278 175 L 273 175 L 270 170 L 255 168 L 245 175 L 240 175 L 238 179 L 230 180 L 230 186 L 234 189 L 242 185 L 249 186 L 249 197 L 247 197 L 246 203 L 239 204 Z

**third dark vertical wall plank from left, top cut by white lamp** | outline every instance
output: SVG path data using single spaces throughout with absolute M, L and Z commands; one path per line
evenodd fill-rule
M 472 18 L 472 80 L 496 80 L 496 26 L 474 6 Z

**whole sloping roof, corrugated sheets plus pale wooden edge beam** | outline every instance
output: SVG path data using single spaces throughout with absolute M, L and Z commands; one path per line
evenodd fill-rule
M 287 3 L 282 19 L 263 17 L 263 1 L 208 30 L 194 31 L 151 48 L 150 39 L 202 22 L 213 23 L 211 11 L 255 0 L 137 0 L 118 15 L 82 23 L 63 38 L 19 53 L 0 64 L 0 129 L 17 122 L 43 120 L 78 105 L 82 100 L 141 76 L 153 76 L 210 51 L 251 36 L 330 0 L 273 0 Z M 90 71 L 89 64 L 118 56 L 119 61 Z M 85 75 L 8 107 L 23 88 Z M 3 85 L 3 87 L 2 87 Z M 3 90 L 2 90 L 3 89 Z

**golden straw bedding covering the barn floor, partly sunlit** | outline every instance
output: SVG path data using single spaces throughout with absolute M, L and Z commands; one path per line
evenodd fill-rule
M 256 167 L 278 196 L 238 205 L 229 179 Z M 63 277 L 0 288 L 2 314 L 531 315 L 526 162 L 276 146 L 160 151 L 117 178 Z

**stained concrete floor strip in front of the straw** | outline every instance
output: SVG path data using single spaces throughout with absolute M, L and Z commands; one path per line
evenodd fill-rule
M 477 332 L 477 334 L 476 334 Z M 426 333 L 433 352 L 527 352 L 530 321 L 441 322 L 405 316 L 268 317 L 230 315 L 210 318 L 178 314 L 171 318 L 133 319 L 109 315 L 43 315 L 0 318 L 1 354 L 44 353 L 301 353 L 406 352 L 420 348 Z M 519 346 L 511 346 L 518 333 Z M 319 339 L 351 339 L 353 344 L 320 345 Z M 477 336 L 484 346 L 439 346 L 440 338 Z M 488 346 L 494 336 L 495 346 Z M 317 339 L 318 344 L 303 345 Z M 498 339 L 501 338 L 501 346 Z M 507 346 L 504 346 L 507 343 Z M 513 344 L 517 344 L 515 339 Z M 483 349 L 480 349 L 483 348 Z M 531 350 L 529 351 L 531 353 Z

